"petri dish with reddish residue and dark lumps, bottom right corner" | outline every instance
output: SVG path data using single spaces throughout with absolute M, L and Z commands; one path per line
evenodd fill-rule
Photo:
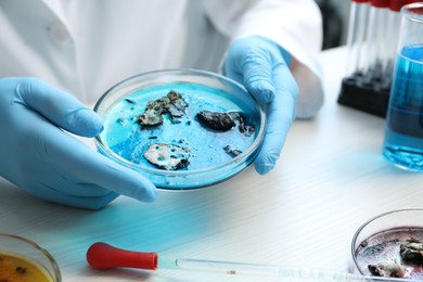
M 423 209 L 392 210 L 368 220 L 354 235 L 351 254 L 355 273 L 422 281 Z

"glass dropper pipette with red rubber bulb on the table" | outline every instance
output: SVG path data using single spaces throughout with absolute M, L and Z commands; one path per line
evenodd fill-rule
M 87 252 L 88 264 L 95 269 L 136 268 L 144 270 L 180 269 L 205 271 L 228 275 L 275 277 L 308 281 L 392 281 L 410 282 L 410 279 L 358 275 L 332 270 L 283 268 L 275 265 L 245 264 L 191 258 L 159 258 L 157 253 L 121 249 L 106 243 L 94 243 Z

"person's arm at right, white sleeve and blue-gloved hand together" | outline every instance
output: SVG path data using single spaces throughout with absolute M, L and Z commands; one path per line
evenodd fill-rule
M 230 38 L 223 73 L 243 84 L 267 108 L 268 129 L 255 161 L 267 174 L 295 117 L 309 118 L 323 103 L 322 22 L 312 0 L 206 1 L 215 27 Z

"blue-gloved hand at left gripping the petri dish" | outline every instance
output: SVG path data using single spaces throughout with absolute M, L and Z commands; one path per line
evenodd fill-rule
M 40 79 L 0 79 L 0 176 L 29 194 L 90 209 L 118 194 L 155 200 L 152 182 L 64 131 L 94 137 L 103 125 L 93 111 Z

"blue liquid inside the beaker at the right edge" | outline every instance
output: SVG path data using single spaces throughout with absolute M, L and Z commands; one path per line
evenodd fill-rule
M 423 171 L 423 46 L 398 54 L 383 154 L 398 167 Z

